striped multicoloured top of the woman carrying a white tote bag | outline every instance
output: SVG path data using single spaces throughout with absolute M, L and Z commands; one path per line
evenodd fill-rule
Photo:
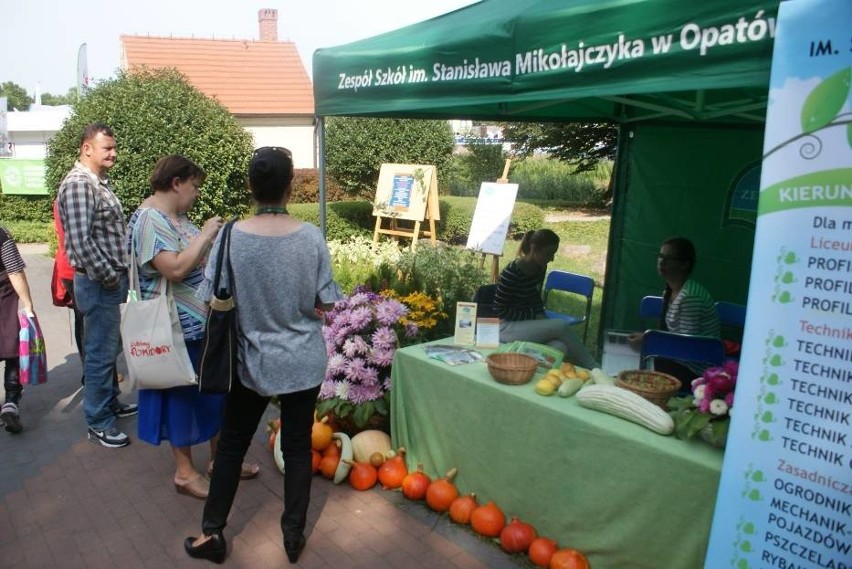
M 155 296 L 163 277 L 151 261 L 162 251 L 180 253 L 189 246 L 189 241 L 201 231 L 181 214 L 180 223 L 175 225 L 161 211 L 145 207 L 137 209 L 130 217 L 127 251 L 131 239 L 136 246 L 136 264 L 139 267 L 139 288 L 142 299 Z M 201 340 L 204 323 L 207 321 L 207 303 L 195 295 L 204 280 L 204 267 L 196 267 L 182 281 L 172 283 L 172 295 L 180 316 L 180 326 L 186 340 Z

